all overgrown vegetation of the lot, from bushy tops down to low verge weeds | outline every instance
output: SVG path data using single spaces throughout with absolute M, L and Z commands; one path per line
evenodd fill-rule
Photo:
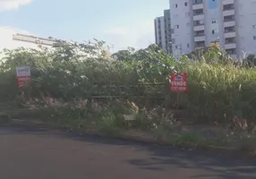
M 206 140 L 189 132 L 169 134 L 180 126 L 171 113 L 174 109 L 189 116 L 186 124 L 200 122 L 253 131 L 255 56 L 240 62 L 210 47 L 175 59 L 155 45 L 139 51 L 128 48 L 110 56 L 104 46 L 102 41 L 61 42 L 54 50 L 5 50 L 0 65 L 0 100 L 3 104 L 13 102 L 9 109 L 2 107 L 4 112 L 10 111 L 9 117 L 40 117 L 55 126 L 109 134 L 131 128 L 155 132 L 161 138 L 174 138 L 177 145 L 183 141 L 201 145 Z M 20 90 L 15 67 L 22 65 L 30 66 L 32 81 Z M 171 72 L 188 73 L 187 93 L 170 91 Z M 30 108 L 30 113 L 17 116 L 13 106 Z

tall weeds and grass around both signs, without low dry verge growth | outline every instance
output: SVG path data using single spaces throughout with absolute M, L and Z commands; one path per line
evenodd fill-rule
M 230 63 L 218 49 L 192 55 L 192 61 L 187 56 L 175 59 L 155 46 L 128 51 L 116 60 L 101 52 L 98 44 L 7 50 L 0 66 L 0 99 L 13 100 L 19 92 L 30 98 L 120 98 L 142 107 L 178 104 L 192 118 L 205 121 L 228 123 L 238 117 L 255 122 L 256 69 Z M 19 65 L 31 68 L 32 83 L 25 90 L 16 86 Z M 170 91 L 171 72 L 188 73 L 187 93 Z

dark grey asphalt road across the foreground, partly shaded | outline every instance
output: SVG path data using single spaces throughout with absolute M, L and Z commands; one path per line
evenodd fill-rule
M 0 128 L 2 179 L 255 179 L 256 160 L 63 132 Z

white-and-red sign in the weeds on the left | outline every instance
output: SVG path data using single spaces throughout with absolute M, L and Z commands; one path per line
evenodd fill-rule
M 18 81 L 18 88 L 23 88 L 28 82 L 30 82 L 30 66 L 18 66 L 16 67 L 16 75 Z

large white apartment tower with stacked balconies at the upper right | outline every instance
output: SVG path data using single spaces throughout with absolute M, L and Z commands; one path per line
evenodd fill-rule
M 256 0 L 169 0 L 174 55 L 218 42 L 234 58 L 256 54 Z

